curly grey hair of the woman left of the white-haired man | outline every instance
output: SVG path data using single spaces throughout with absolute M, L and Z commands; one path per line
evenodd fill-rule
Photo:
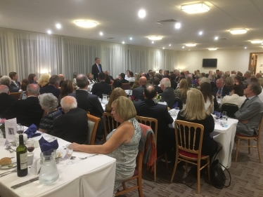
M 44 93 L 39 95 L 39 104 L 46 111 L 53 111 L 58 107 L 58 99 L 52 93 Z

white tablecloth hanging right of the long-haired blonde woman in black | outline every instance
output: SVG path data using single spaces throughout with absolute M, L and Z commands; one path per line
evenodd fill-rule
M 177 111 L 178 113 L 178 111 Z M 177 116 L 172 116 L 174 120 L 177 119 Z M 222 150 L 217 154 L 219 162 L 222 163 L 226 168 L 231 166 L 231 153 L 233 149 L 234 138 L 236 135 L 236 125 L 238 120 L 229 118 L 228 126 L 223 128 L 220 123 L 215 123 L 214 131 L 210 134 L 215 141 L 222 144 Z M 174 128 L 174 122 L 169 124 L 170 128 Z

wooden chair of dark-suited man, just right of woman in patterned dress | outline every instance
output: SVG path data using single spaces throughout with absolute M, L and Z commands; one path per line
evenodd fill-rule
M 139 123 L 142 123 L 143 125 L 148 125 L 150 126 L 150 128 L 153 129 L 155 135 L 155 146 L 157 147 L 158 120 L 156 120 L 155 118 L 147 118 L 143 116 L 136 116 L 135 118 Z M 168 169 L 167 154 L 162 154 L 161 156 L 158 156 L 158 158 L 161 158 L 162 156 L 165 156 L 165 164 L 166 168 Z M 156 163 L 154 165 L 154 181 L 156 182 Z

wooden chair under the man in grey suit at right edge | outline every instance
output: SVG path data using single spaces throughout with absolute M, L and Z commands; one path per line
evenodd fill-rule
M 239 151 L 239 147 L 248 147 L 248 154 L 250 154 L 250 147 L 257 147 L 257 152 L 259 154 L 259 163 L 261 163 L 261 153 L 260 153 L 260 134 L 262 133 L 262 127 L 263 127 L 263 116 L 261 118 L 261 121 L 259 123 L 259 129 L 257 130 L 258 133 L 257 135 L 253 135 L 253 136 L 245 136 L 245 135 L 241 135 L 241 134 L 236 134 L 236 138 L 238 139 L 238 144 L 236 145 L 236 158 L 235 158 L 235 162 L 238 161 L 238 151 Z M 240 140 L 248 140 L 248 146 L 246 145 L 240 145 Z M 256 140 L 257 141 L 257 145 L 250 145 L 250 140 Z

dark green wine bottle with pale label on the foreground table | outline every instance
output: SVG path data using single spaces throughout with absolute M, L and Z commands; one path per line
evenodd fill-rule
M 16 162 L 18 164 L 18 177 L 25 177 L 27 171 L 27 147 L 24 144 L 23 135 L 19 135 L 19 146 L 16 148 Z

